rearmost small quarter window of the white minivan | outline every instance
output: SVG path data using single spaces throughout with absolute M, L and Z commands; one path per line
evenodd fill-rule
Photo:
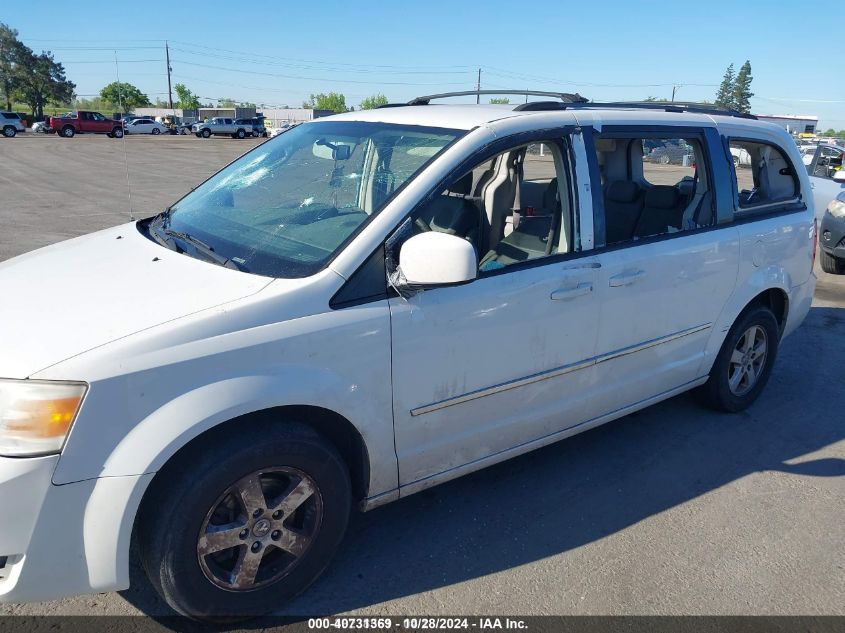
M 790 201 L 798 195 L 793 166 L 774 145 L 731 139 L 730 151 L 740 211 Z

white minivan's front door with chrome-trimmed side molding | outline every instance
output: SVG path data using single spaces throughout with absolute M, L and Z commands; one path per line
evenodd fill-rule
M 501 227 L 475 238 L 478 278 L 389 300 L 400 486 L 425 486 L 429 478 L 506 459 L 592 416 L 598 264 L 580 245 L 579 227 L 591 222 L 589 189 L 574 195 L 569 167 L 573 149 L 581 153 L 576 162 L 586 165 L 586 158 L 568 131 L 537 140 L 545 151 L 535 142 L 534 153 L 523 146 L 479 155 L 476 173 L 503 158 L 494 160 L 499 171 L 484 191 L 457 186 L 469 174 L 455 174 L 445 199 L 435 196 L 440 211 L 425 220 L 430 230 L 464 237 L 456 231 L 466 227 L 456 221 L 450 228 L 446 220 L 465 203 L 477 205 L 486 231 Z M 522 174 L 507 171 L 514 151 L 524 152 Z M 532 191 L 535 199 L 527 200 Z M 586 208 L 573 202 L 579 198 Z M 418 209 L 409 225 L 419 226 L 425 211 Z M 537 227 L 550 226 L 542 224 L 550 211 L 560 228 L 548 231 L 552 247 L 544 250 L 547 230 Z

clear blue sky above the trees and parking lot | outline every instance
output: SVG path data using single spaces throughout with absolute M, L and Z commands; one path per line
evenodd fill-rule
M 479 68 L 484 89 L 623 101 L 671 98 L 675 86 L 679 101 L 712 101 L 728 64 L 738 70 L 748 59 L 753 112 L 816 115 L 822 130 L 845 129 L 842 28 L 838 35 L 824 28 L 843 24 L 841 3 L 249 4 L 86 0 L 71 9 L 48 0 L 35 11 L 13 2 L 0 21 L 36 52 L 52 51 L 80 96 L 96 95 L 119 73 L 152 100 L 166 100 L 165 41 L 174 84 L 186 84 L 204 102 L 229 97 L 266 107 L 300 107 L 309 94 L 330 91 L 357 108 L 374 93 L 402 102 L 472 90 Z

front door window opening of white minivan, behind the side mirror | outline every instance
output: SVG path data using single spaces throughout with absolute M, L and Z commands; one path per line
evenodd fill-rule
M 573 250 L 573 205 L 562 145 L 537 142 L 479 162 L 413 217 L 416 233 L 470 241 L 480 273 Z

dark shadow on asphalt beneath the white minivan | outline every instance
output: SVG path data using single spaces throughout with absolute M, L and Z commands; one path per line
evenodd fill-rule
M 337 559 L 280 614 L 338 613 L 554 556 L 746 475 L 843 477 L 806 459 L 845 437 L 845 310 L 813 308 L 784 341 L 760 400 L 736 415 L 690 394 L 353 517 Z M 789 463 L 787 463 L 789 462 Z M 137 562 L 123 597 L 172 614 Z

